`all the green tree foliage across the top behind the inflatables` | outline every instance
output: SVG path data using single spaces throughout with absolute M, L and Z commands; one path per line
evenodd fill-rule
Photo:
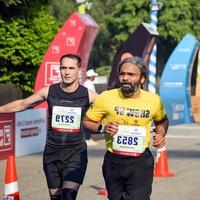
M 160 0 L 158 62 L 191 33 L 200 40 L 200 4 L 196 0 Z M 142 22 L 150 22 L 151 0 L 91 0 L 88 11 L 100 26 L 90 56 L 92 68 L 110 66 L 116 51 Z M 0 82 L 30 91 L 35 73 L 54 35 L 77 10 L 74 0 L 0 0 Z M 53 17 L 54 16 L 54 17 Z

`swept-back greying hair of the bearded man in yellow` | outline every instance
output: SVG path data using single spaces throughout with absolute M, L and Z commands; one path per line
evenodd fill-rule
M 120 72 L 121 70 L 121 66 L 125 63 L 132 63 L 134 65 L 137 65 L 138 68 L 140 69 L 141 71 L 141 75 L 145 77 L 145 79 L 147 79 L 148 77 L 148 69 L 147 69 L 147 66 L 146 64 L 144 63 L 144 60 L 140 57 L 137 57 L 137 56 L 131 56 L 131 57 L 128 57 L 128 58 L 125 58 L 123 60 L 121 60 L 118 64 L 118 72 Z

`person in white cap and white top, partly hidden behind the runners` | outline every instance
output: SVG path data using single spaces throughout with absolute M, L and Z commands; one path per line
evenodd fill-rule
M 98 76 L 98 74 L 93 69 L 89 69 L 86 72 L 86 81 L 84 82 L 83 85 L 92 92 L 96 92 L 96 88 L 94 85 L 94 80 L 96 76 Z M 93 132 L 91 130 L 85 129 L 85 138 L 87 146 L 95 146 L 98 144 L 92 139 L 92 134 Z

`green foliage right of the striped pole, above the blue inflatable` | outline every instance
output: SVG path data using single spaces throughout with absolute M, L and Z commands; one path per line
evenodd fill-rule
M 159 11 L 158 58 L 164 65 L 173 49 L 187 34 L 193 34 L 200 40 L 200 4 L 195 0 L 162 0 L 163 7 Z

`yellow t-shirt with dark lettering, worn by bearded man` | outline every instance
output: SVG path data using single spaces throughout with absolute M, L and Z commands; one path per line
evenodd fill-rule
M 124 97 L 120 89 L 104 91 L 96 98 L 86 115 L 93 121 L 103 121 L 105 125 L 116 121 L 120 125 L 144 127 L 145 147 L 149 147 L 152 120 L 162 120 L 166 111 L 158 95 L 142 89 L 140 91 L 140 97 L 135 99 Z M 113 137 L 106 134 L 105 140 L 107 150 L 112 152 Z

